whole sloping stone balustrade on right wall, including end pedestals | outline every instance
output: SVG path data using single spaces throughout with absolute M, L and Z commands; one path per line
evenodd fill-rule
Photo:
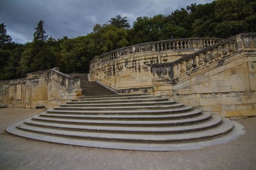
M 221 59 L 242 51 L 246 48 L 256 48 L 256 33 L 242 33 L 206 47 L 193 54 L 187 55 L 172 63 L 154 64 L 153 72 L 158 78 L 175 80 L 199 68 L 217 62 Z M 173 81 L 175 83 L 176 81 Z

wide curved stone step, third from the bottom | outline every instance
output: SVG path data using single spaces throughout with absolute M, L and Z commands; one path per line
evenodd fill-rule
M 125 134 L 174 134 L 192 132 L 198 130 L 204 130 L 213 128 L 221 122 L 221 118 L 213 115 L 210 120 L 204 121 L 192 125 L 180 125 L 180 126 L 169 126 L 169 127 L 123 127 L 123 126 L 93 126 L 93 125 L 77 125 L 77 124 L 59 124 L 49 123 L 42 121 L 35 121 L 32 119 L 24 120 L 26 124 L 46 127 L 63 129 L 69 131 L 87 131 L 87 132 L 98 132 L 98 133 L 125 133 Z

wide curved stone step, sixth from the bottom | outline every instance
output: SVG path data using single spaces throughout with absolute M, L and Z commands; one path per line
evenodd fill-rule
M 181 113 L 192 109 L 192 106 L 184 106 L 173 109 L 153 109 L 153 110 L 47 110 L 47 113 L 57 113 L 57 114 L 131 114 L 131 115 L 141 115 L 141 114 L 166 114 L 166 113 Z

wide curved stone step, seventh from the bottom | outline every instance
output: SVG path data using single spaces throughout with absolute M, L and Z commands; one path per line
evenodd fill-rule
M 169 105 L 141 105 L 141 106 L 104 106 L 104 107 L 54 107 L 55 110 L 144 110 L 144 109 L 172 109 L 183 106 L 183 103 Z

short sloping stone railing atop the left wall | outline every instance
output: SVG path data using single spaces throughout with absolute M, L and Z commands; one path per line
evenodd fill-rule
M 48 78 L 68 89 L 80 88 L 80 79 L 78 76 L 69 76 L 59 72 L 58 68 L 52 68 L 47 71 Z

